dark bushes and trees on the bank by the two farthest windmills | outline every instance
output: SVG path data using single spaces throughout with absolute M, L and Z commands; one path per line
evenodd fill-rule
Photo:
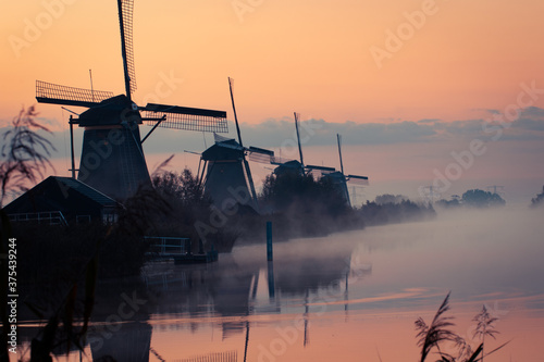
M 370 225 L 428 220 L 435 216 L 431 205 L 418 204 L 403 195 L 380 195 L 373 202 L 351 208 L 331 178 L 311 174 L 282 173 L 264 182 L 262 203 L 274 215 L 288 220 L 286 229 L 297 236 L 322 235 Z

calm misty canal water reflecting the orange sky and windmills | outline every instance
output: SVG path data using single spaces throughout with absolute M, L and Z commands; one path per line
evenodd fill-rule
M 471 320 L 483 304 L 500 332 L 486 349 L 511 340 L 486 361 L 542 361 L 543 216 L 508 208 L 441 214 L 277 242 L 273 263 L 260 245 L 210 265 L 149 265 L 139 283 L 100 285 L 85 352 L 119 361 L 418 361 L 413 321 L 430 322 L 452 291 L 455 330 L 474 348 Z

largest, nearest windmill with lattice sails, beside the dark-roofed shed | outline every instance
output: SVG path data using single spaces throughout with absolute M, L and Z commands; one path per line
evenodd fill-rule
M 118 0 L 125 93 L 99 91 L 36 80 L 36 99 L 41 103 L 88 108 L 73 125 L 85 128 L 77 179 L 116 198 L 126 199 L 140 185 L 150 185 L 141 143 L 157 127 L 226 133 L 226 112 L 148 103 L 132 100 L 136 90 L 133 50 L 133 0 Z M 144 115 L 140 113 L 144 112 Z M 153 126 L 141 139 L 139 125 Z M 72 175 L 75 177 L 74 162 Z

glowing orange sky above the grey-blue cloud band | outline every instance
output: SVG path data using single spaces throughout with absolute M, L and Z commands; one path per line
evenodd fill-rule
M 91 68 L 95 89 L 123 92 L 115 1 L 3 1 L 0 13 L 3 123 L 35 103 L 35 79 L 90 88 Z M 520 84 L 544 88 L 543 13 L 533 0 L 135 0 L 134 100 L 232 118 L 231 76 L 246 124 L 293 111 L 329 123 L 483 118 L 516 103 Z M 376 61 L 376 49 L 387 57 Z M 59 107 L 38 111 L 65 127 Z M 447 165 L 444 154 L 421 178 Z

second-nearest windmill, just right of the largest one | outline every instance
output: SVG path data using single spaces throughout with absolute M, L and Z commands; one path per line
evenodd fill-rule
M 203 161 L 205 164 L 199 179 L 203 180 L 205 192 L 211 197 L 218 208 L 226 210 L 239 203 L 249 205 L 259 212 L 248 157 L 251 155 L 252 160 L 257 162 L 268 163 L 274 157 L 274 152 L 258 147 L 244 147 L 234 104 L 233 79 L 231 78 L 228 78 L 228 89 L 238 141 L 214 135 L 215 143 L 201 154 L 200 162 Z

